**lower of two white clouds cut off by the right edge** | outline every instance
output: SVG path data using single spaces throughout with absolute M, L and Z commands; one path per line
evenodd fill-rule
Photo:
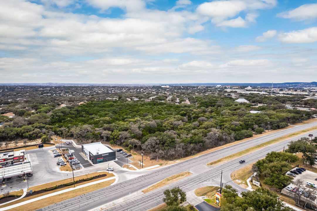
M 317 41 L 317 27 L 298 31 L 280 33 L 278 35 L 281 43 L 311 43 Z

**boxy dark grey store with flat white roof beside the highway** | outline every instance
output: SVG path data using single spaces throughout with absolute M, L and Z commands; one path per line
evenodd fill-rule
M 101 142 L 82 144 L 81 152 L 94 164 L 116 159 L 116 152 L 101 144 Z

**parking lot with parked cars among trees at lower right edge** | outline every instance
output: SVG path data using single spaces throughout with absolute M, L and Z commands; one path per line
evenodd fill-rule
M 291 169 L 291 170 L 295 170 L 296 168 L 294 168 L 294 169 Z M 291 173 L 290 171 L 288 171 L 287 173 L 286 173 L 286 175 L 288 174 L 288 173 Z M 308 170 L 306 170 L 306 171 L 304 171 L 304 172 L 302 172 L 301 174 L 298 174 L 298 175 L 296 175 L 296 177 L 293 177 L 293 181 L 294 180 L 297 180 L 297 179 L 301 179 L 302 181 L 303 181 L 303 186 L 305 186 L 306 185 L 306 182 L 311 182 L 311 183 L 313 183 L 313 184 L 317 184 L 317 181 L 315 180 L 317 178 L 317 173 L 314 173 L 314 172 L 312 172 L 312 171 L 308 171 Z M 285 187 L 284 189 L 282 189 L 282 193 L 284 193 L 284 194 L 287 194 L 287 195 L 289 195 L 289 196 L 292 196 L 292 193 L 293 193 L 293 191 L 292 191 L 292 189 L 287 189 L 288 187 L 292 187 L 292 189 L 294 189 L 295 187 L 297 187 L 296 185 L 294 185 L 294 184 L 290 184 L 290 185 L 288 185 L 287 187 Z M 302 188 L 302 187 L 301 187 Z M 307 189 L 309 189 L 308 187 L 307 187 Z M 309 189 L 309 190 L 314 190 L 314 189 Z M 299 190 L 297 190 L 296 192 L 298 192 Z M 314 196 L 317 196 L 317 191 L 316 190 L 314 190 L 314 193 L 312 194 L 312 195 L 314 195 Z M 314 202 L 314 203 L 316 203 L 316 198 L 317 197 L 314 197 L 314 196 L 312 196 L 312 198 L 314 198 L 314 200 L 311 200 L 312 202 Z

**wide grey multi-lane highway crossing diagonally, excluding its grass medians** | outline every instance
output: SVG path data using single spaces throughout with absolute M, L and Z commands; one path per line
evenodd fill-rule
M 249 163 L 253 163 L 259 159 L 262 159 L 268 152 L 281 151 L 283 150 L 283 147 L 287 148 L 287 144 L 291 140 L 297 140 L 300 137 L 307 137 L 308 134 L 311 133 L 316 134 L 317 130 L 307 132 L 303 135 L 296 136 L 276 144 L 270 144 L 252 153 L 239 157 L 235 160 L 231 160 L 216 166 L 207 166 L 207 160 L 208 162 L 211 162 L 219 158 L 226 157 L 228 155 L 242 151 L 244 149 L 256 146 L 258 144 L 263 144 L 277 137 L 281 137 L 296 131 L 301 131 L 303 129 L 313 127 L 316 125 L 317 122 L 306 125 L 299 125 L 286 130 L 277 131 L 275 133 L 268 134 L 262 137 L 253 138 L 239 144 L 224 147 L 223 149 L 210 152 L 208 154 L 204 154 L 181 163 L 176 163 L 159 169 L 147 171 L 147 174 L 126 181 L 121 180 L 122 182 L 115 183 L 114 185 L 111 185 L 109 187 L 92 191 L 85 195 L 81 195 L 78 197 L 74 197 L 72 199 L 56 203 L 49 207 L 39 209 L 39 211 L 87 211 L 92 210 L 94 208 L 98 208 L 101 205 L 103 205 L 101 208 L 104 209 L 98 208 L 94 210 L 145 211 L 163 203 L 163 191 L 165 189 L 170 189 L 172 187 L 179 186 L 184 191 L 188 192 L 193 189 L 197 189 L 199 187 L 204 187 L 208 185 L 219 186 L 221 171 L 223 171 L 223 182 L 225 184 L 230 184 L 235 189 L 237 189 L 239 193 L 241 193 L 242 191 L 246 191 L 246 189 L 243 189 L 231 180 L 231 172 L 235 171 L 236 169 L 243 168 Z M 240 164 L 239 160 L 241 159 L 246 160 L 246 162 Z M 166 177 L 178 174 L 183 171 L 190 171 L 193 174 L 182 180 L 166 185 L 162 188 L 155 189 L 149 193 L 142 194 L 142 192 L 140 192 L 141 190 L 150 187 L 151 185 L 165 179 Z

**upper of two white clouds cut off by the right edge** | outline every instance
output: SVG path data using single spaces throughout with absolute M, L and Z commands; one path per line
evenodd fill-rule
M 304 4 L 294 10 L 279 13 L 277 16 L 290 18 L 294 21 L 314 20 L 317 17 L 317 3 Z

